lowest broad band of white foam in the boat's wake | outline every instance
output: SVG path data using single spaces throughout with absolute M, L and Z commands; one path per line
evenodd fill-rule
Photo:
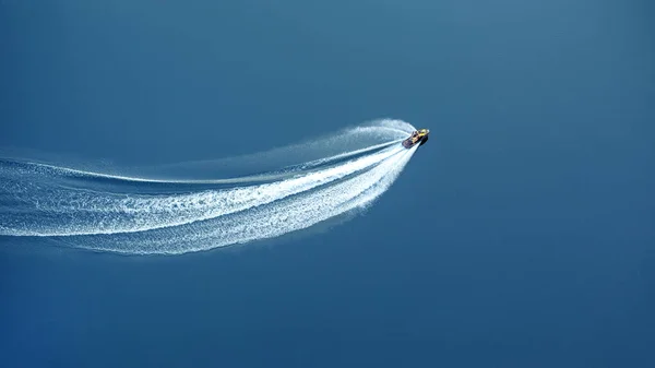
M 416 149 L 403 150 L 372 169 L 336 185 L 231 216 L 190 224 L 183 232 L 165 228 L 71 241 L 79 247 L 119 253 L 179 254 L 277 237 L 370 205 L 391 187 Z

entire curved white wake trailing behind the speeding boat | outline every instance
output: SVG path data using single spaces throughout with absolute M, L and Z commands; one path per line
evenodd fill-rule
M 400 144 L 413 130 L 397 120 L 353 128 L 274 150 L 311 151 L 313 159 L 226 179 L 138 178 L 0 159 L 0 235 L 66 237 L 74 247 L 132 254 L 281 236 L 372 203 L 416 151 Z

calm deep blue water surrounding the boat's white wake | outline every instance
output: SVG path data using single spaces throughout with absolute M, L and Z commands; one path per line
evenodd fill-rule
M 114 173 L 379 118 L 431 135 L 366 212 L 297 235 L 148 257 L 0 237 L 0 366 L 655 366 L 652 15 L 1 2 L 3 158 Z

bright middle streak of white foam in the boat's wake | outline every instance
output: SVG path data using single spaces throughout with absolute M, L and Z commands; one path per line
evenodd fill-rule
M 0 235 L 72 236 L 179 226 L 311 190 L 377 165 L 402 150 L 395 145 L 335 167 L 273 183 L 190 194 L 151 197 L 59 189 L 49 195 L 35 195 L 34 190 L 27 190 L 31 198 L 24 201 L 32 201 L 39 213 L 49 216 L 39 215 L 32 222 L 26 222 L 24 216 L 17 217 L 20 223 L 3 224 Z

